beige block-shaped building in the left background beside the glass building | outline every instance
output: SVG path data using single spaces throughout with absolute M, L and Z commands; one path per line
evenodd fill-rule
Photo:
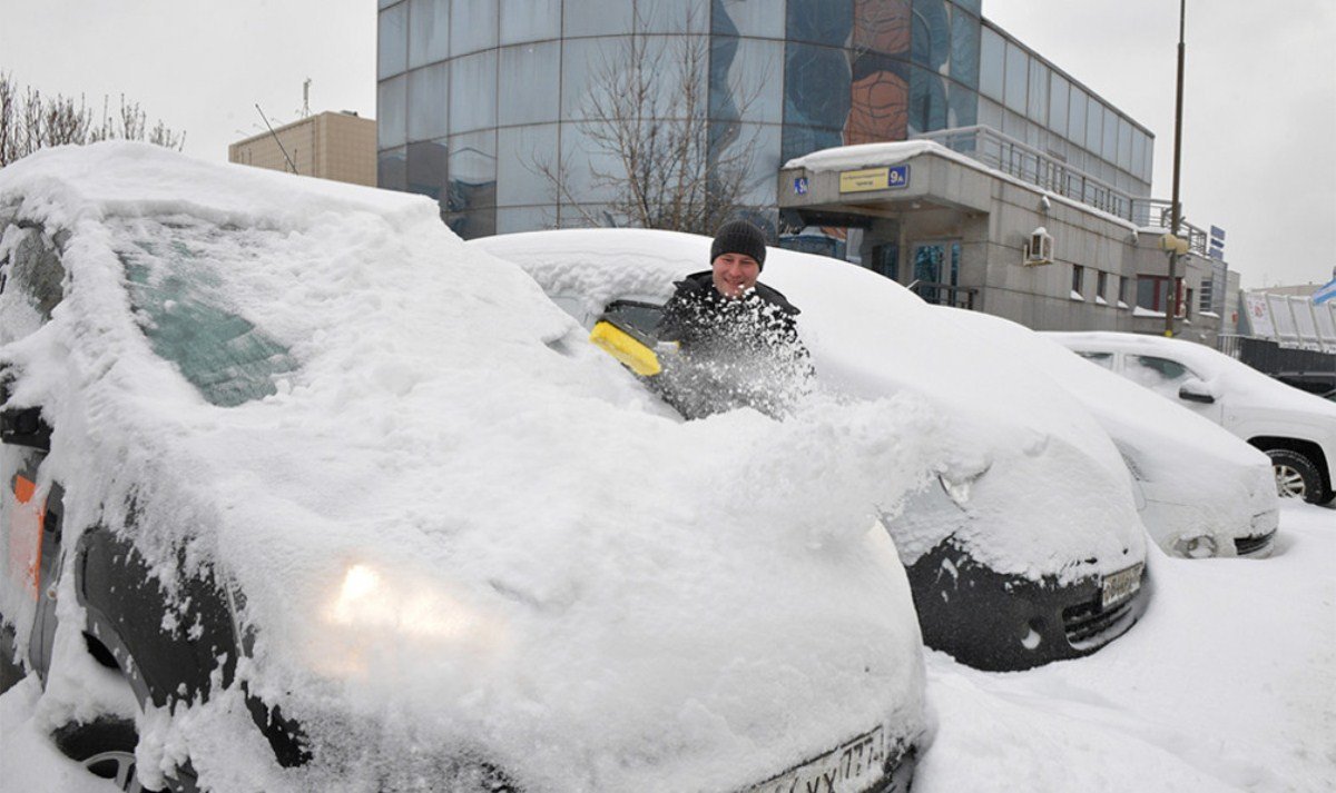
M 375 187 L 375 121 L 323 112 L 234 143 L 227 159 L 273 171 L 293 172 L 295 166 L 305 176 Z

